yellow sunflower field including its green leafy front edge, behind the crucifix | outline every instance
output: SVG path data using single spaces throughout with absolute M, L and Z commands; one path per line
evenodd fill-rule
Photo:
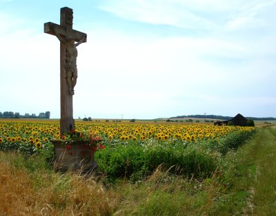
M 181 123 L 76 122 L 75 130 L 101 137 L 106 147 L 95 152 L 99 171 L 109 177 L 141 179 L 162 164 L 175 173 L 206 177 L 254 132 L 254 127 L 185 125 Z M 0 121 L 0 151 L 54 158 L 52 139 L 59 139 L 58 121 Z

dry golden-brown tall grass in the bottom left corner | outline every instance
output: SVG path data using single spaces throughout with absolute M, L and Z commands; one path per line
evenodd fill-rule
M 0 215 L 111 215 L 118 195 L 92 177 L 14 167 L 0 153 Z

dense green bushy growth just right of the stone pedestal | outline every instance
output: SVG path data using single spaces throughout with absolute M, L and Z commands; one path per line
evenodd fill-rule
M 117 177 L 130 177 L 141 180 L 164 164 L 166 169 L 177 167 L 177 173 L 207 177 L 217 168 L 219 154 L 206 149 L 203 145 L 155 142 L 150 144 L 106 145 L 103 151 L 95 153 L 99 170 L 111 180 Z

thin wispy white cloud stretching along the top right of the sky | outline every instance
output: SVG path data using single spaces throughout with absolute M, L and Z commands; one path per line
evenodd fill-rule
M 102 1 L 99 8 L 124 19 L 151 24 L 172 25 L 191 30 L 240 30 L 267 25 L 266 10 L 275 7 L 275 0 L 150 0 Z M 274 10 L 272 11 L 274 13 Z

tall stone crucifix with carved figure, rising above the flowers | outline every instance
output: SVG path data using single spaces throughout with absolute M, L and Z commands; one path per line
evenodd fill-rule
M 72 29 L 72 21 L 73 10 L 65 7 L 61 8 L 60 25 L 44 23 L 44 33 L 55 35 L 60 41 L 60 136 L 75 129 L 72 96 L 77 83 L 77 46 L 87 39 L 85 33 Z

